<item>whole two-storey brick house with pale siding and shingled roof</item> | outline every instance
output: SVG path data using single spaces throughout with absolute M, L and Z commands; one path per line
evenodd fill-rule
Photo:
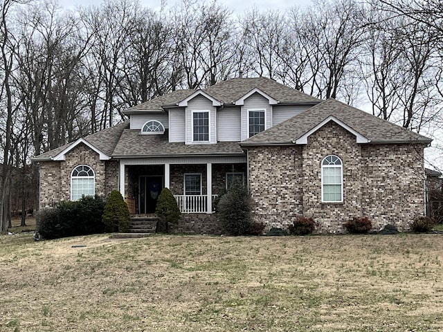
M 133 214 L 154 212 L 161 188 L 177 199 L 177 232 L 222 232 L 213 200 L 248 186 L 253 218 L 286 228 L 311 216 L 342 232 L 353 216 L 406 229 L 424 214 L 424 148 L 431 139 L 347 104 L 273 80 L 235 78 L 179 90 L 125 111 L 129 121 L 48 151 L 40 208 L 120 190 Z

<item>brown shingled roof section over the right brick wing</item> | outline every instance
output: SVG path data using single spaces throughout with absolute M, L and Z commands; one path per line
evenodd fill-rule
M 291 144 L 330 116 L 368 138 L 372 143 L 431 142 L 430 138 L 331 98 L 244 140 L 241 145 Z

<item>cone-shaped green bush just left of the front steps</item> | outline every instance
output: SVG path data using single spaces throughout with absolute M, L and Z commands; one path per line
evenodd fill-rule
M 113 190 L 108 197 L 103 212 L 102 221 L 107 232 L 127 232 L 131 225 L 131 216 L 123 196 L 118 190 Z

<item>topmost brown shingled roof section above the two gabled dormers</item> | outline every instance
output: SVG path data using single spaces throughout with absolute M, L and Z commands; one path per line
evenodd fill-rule
M 320 102 L 320 100 L 311 95 L 292 89 L 289 86 L 284 86 L 266 77 L 233 78 L 201 90 L 225 105 L 232 105 L 235 100 L 242 98 L 242 96 L 255 88 L 260 89 L 260 91 L 263 91 L 266 95 L 278 100 L 280 104 L 316 104 Z M 195 91 L 197 90 L 184 89 L 172 91 L 161 97 L 131 107 L 127 109 L 125 113 L 162 111 L 163 107 L 177 105 L 192 95 L 192 93 L 195 93 Z

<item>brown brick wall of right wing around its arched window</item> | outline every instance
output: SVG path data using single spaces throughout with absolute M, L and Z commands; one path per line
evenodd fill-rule
M 343 232 L 353 216 L 368 216 L 374 230 L 401 230 L 424 213 L 423 145 L 359 145 L 334 122 L 302 147 L 251 147 L 249 181 L 256 221 L 287 228 L 296 216 L 313 217 L 318 232 Z M 321 162 L 343 161 L 343 203 L 322 203 Z M 272 174 L 272 176 L 270 176 Z M 265 230 L 265 231 L 266 231 Z

